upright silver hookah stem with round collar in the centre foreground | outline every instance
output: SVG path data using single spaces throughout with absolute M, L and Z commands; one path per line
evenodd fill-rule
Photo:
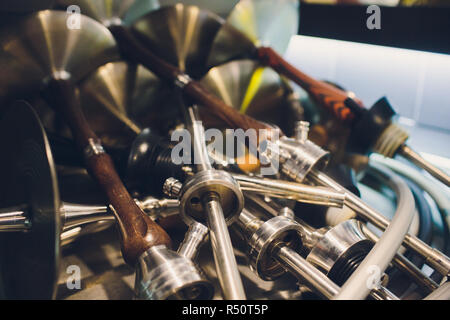
M 180 214 L 186 223 L 207 222 L 224 298 L 245 299 L 245 291 L 233 252 L 227 225 L 242 211 L 244 197 L 237 182 L 225 171 L 214 170 L 208 158 L 204 128 L 198 121 L 196 108 L 186 111 L 186 125 L 192 136 L 196 173 L 179 190 Z M 167 187 L 167 185 L 165 185 Z

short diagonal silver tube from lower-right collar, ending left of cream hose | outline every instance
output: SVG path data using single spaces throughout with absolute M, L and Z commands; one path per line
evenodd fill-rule
M 331 299 L 339 293 L 339 286 L 324 273 L 312 266 L 302 256 L 286 246 L 274 248 L 273 257 L 299 280 L 305 281 L 311 289 Z

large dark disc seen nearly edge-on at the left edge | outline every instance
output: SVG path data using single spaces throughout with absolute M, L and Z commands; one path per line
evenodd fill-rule
M 31 218 L 30 231 L 0 235 L 0 291 L 7 299 L 53 299 L 61 204 L 45 131 L 26 102 L 16 102 L 3 113 L 0 150 L 0 207 L 25 204 Z

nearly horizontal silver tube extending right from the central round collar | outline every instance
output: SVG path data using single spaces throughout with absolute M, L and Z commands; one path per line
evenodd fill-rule
M 233 178 L 239 183 L 239 187 L 243 191 L 329 207 L 342 208 L 344 206 L 345 194 L 331 188 L 313 187 L 290 181 L 254 178 L 240 174 L 233 175 Z

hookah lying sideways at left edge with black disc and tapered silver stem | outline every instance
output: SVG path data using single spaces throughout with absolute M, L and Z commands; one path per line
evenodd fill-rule
M 2 150 L 7 150 L 0 159 L 5 294 L 8 298 L 52 299 L 56 294 L 60 239 L 64 239 L 64 233 L 94 222 L 114 221 L 114 216 L 106 205 L 60 200 L 45 131 L 26 102 L 18 101 L 6 110 L 0 120 L 0 131 Z M 154 199 L 143 199 L 140 207 L 153 218 L 163 214 L 155 210 Z

